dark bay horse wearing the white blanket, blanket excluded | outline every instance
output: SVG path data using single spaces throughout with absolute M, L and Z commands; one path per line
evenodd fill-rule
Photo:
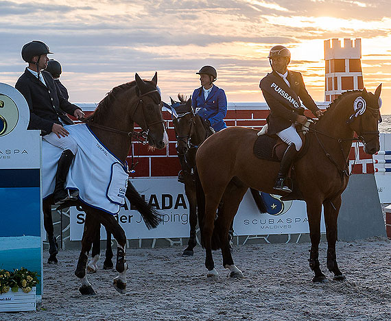
M 134 122 L 138 123 L 147 142 L 156 148 L 164 148 L 168 142 L 163 117 L 161 114 L 161 94 L 157 88 L 157 73 L 151 81 L 141 80 L 135 74 L 135 80 L 121 84 L 99 102 L 95 111 L 84 119 L 84 123 L 95 134 L 97 139 L 114 154 L 123 164 L 126 163 L 131 139 L 134 134 Z M 129 196 L 129 185 L 126 195 Z M 50 205 L 54 204 L 52 198 L 44 200 L 45 229 L 49 239 L 49 254 L 56 250 L 56 242 L 53 235 Z M 101 224 L 110 231 L 117 241 L 116 270 L 119 273 L 114 279 L 115 289 L 124 294 L 126 292 L 126 235 L 114 215 L 96 209 L 93 206 L 78 201 L 66 202 L 62 206 L 79 206 L 86 213 L 84 231 L 82 236 L 82 249 L 78 259 L 75 275 L 80 278 L 82 286 L 81 294 L 95 294 L 95 291 L 86 278 L 86 265 L 88 252 L 91 250 L 93 239 L 100 229 Z M 152 215 L 143 217 L 148 226 L 157 226 L 159 218 Z M 51 223 L 51 226 L 50 226 Z M 54 252 L 53 252 L 54 251 Z

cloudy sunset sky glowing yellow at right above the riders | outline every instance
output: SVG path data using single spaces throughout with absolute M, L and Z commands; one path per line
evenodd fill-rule
M 383 83 L 382 112 L 391 114 L 389 0 L 8 0 L 0 8 L 0 82 L 13 86 L 26 66 L 21 47 L 43 40 L 71 102 L 99 102 L 135 72 L 158 71 L 165 101 L 191 95 L 204 64 L 217 69 L 228 102 L 264 102 L 259 80 L 276 44 L 291 50 L 290 69 L 323 102 L 323 41 L 362 38 L 364 85 L 374 92 Z

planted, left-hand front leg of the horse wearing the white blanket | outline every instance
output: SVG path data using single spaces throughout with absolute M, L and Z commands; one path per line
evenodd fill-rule
M 82 286 L 79 288 L 79 291 L 83 295 L 96 294 L 93 287 L 87 280 L 86 268 L 88 261 L 88 252 L 91 250 L 93 240 L 96 236 L 96 231 L 99 229 L 100 223 L 96 215 L 91 215 L 86 212 L 86 221 L 84 222 L 84 230 L 82 237 L 82 250 L 80 251 L 78 265 L 76 266 L 75 276 L 80 278 Z

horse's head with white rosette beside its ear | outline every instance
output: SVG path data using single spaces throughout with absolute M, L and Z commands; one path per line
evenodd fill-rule
M 379 122 L 381 121 L 381 84 L 375 94 L 368 93 L 364 88 L 353 101 L 353 113 L 348 119 L 351 128 L 364 143 L 364 152 L 375 154 L 380 149 Z

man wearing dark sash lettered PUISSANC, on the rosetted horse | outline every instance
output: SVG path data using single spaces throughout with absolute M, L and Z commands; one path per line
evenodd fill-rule
M 301 73 L 287 70 L 291 53 L 286 47 L 272 47 L 268 58 L 272 73 L 268 73 L 259 83 L 259 88 L 270 108 L 268 134 L 276 134 L 288 145 L 281 159 L 274 189 L 290 193 L 292 190 L 285 184 L 285 178 L 303 145 L 295 126 L 298 123 L 304 125 L 307 121 L 300 100 L 316 117 L 322 117 L 323 112 L 307 92 Z

